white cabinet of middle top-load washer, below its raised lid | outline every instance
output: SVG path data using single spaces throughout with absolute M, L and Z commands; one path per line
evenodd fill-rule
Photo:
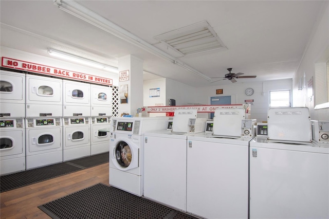
M 248 218 L 251 139 L 207 133 L 187 137 L 187 212 L 205 218 Z

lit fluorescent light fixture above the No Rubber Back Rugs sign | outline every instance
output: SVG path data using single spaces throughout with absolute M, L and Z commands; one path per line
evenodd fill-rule
M 83 65 L 88 65 L 90 67 L 99 68 L 99 69 L 102 69 L 102 70 L 111 71 L 111 72 L 114 72 L 114 73 L 119 73 L 119 70 L 116 67 L 112 67 L 112 66 L 109 66 L 109 65 L 104 65 L 104 64 L 99 63 L 99 62 L 95 62 L 95 61 L 92 61 L 92 60 L 89 60 L 89 59 L 78 57 L 78 56 L 75 56 L 74 54 L 69 54 L 69 53 L 66 53 L 66 52 L 62 52 L 62 51 L 58 51 L 56 49 L 50 49 L 50 48 L 48 48 L 48 53 L 51 56 L 54 56 L 54 57 L 66 59 L 66 60 L 69 60 L 69 61 L 72 61 L 72 62 L 80 63 L 80 64 L 83 64 Z

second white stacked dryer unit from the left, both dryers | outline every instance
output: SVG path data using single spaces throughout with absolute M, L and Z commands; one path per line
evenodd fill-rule
M 26 170 L 63 161 L 62 80 L 26 75 Z

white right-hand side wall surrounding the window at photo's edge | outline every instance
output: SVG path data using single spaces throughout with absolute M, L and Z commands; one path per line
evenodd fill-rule
M 313 120 L 329 120 L 329 108 L 314 109 L 315 102 L 314 96 L 312 98 L 307 97 L 307 82 L 313 77 L 313 83 L 315 78 L 315 63 L 320 58 L 325 48 L 329 46 L 329 2 L 323 2 L 323 11 L 319 13 L 317 23 L 314 25 L 313 32 L 310 34 L 309 44 L 307 45 L 304 56 L 300 62 L 300 65 L 293 78 L 293 94 L 294 94 L 294 106 L 306 106 L 310 109 L 310 117 Z M 300 79 L 306 76 L 306 87 L 302 90 L 298 90 L 298 84 Z M 313 84 L 315 87 L 315 84 Z

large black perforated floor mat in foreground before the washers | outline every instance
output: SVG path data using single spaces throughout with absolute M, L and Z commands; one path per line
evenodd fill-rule
M 38 206 L 38 208 L 52 218 L 62 219 L 196 218 L 104 184 L 96 184 Z

